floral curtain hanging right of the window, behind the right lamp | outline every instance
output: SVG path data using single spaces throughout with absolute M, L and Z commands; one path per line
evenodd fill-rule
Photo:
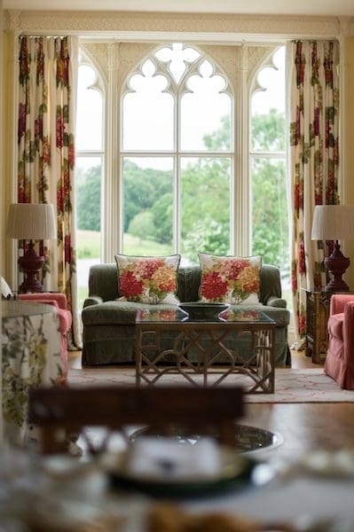
M 338 197 L 339 43 L 296 41 L 290 51 L 292 288 L 296 348 L 303 348 L 306 293 L 326 285 L 323 259 L 333 246 L 311 240 L 315 205 Z

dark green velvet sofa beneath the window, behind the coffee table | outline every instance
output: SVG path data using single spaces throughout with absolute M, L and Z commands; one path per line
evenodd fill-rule
M 280 273 L 275 266 L 264 264 L 261 269 L 260 304 L 240 305 L 245 310 L 264 311 L 276 322 L 275 364 L 289 364 L 287 302 L 281 298 Z M 179 301 L 198 301 L 201 284 L 199 266 L 179 267 Z M 91 266 L 89 296 L 83 302 L 83 366 L 103 364 L 131 364 L 135 361 L 135 317 L 137 309 L 151 308 L 148 303 L 117 301 L 118 272 L 115 263 Z M 170 309 L 169 304 L 153 305 L 153 309 Z M 240 335 L 241 336 L 241 335 Z M 171 345 L 173 333 L 165 337 Z M 240 342 L 240 337 L 235 340 Z M 239 352 L 247 352 L 248 346 L 236 345 Z

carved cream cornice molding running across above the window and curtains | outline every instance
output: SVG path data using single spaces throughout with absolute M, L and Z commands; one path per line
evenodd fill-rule
M 238 35 L 254 37 L 303 38 L 336 37 L 341 22 L 335 17 L 245 15 L 220 13 L 163 12 L 4 12 L 5 29 L 28 33 L 60 32 L 78 35 L 144 32 L 151 38 L 167 39 L 167 35 L 189 34 L 191 39 L 215 35 L 224 40 Z M 354 35 L 354 18 L 348 21 Z M 130 40 L 131 35 L 127 35 Z M 121 39 L 122 35 L 117 35 Z

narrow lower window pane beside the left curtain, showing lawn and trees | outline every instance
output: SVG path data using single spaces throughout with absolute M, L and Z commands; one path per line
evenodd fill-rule
M 75 201 L 79 309 L 83 307 L 83 299 L 88 293 L 90 266 L 100 262 L 101 179 L 100 157 L 77 157 Z

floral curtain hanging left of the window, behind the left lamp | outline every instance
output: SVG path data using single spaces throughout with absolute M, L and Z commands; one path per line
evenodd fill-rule
M 18 201 L 52 203 L 58 239 L 39 246 L 44 290 L 66 293 L 77 343 L 75 223 L 75 37 L 20 37 Z

